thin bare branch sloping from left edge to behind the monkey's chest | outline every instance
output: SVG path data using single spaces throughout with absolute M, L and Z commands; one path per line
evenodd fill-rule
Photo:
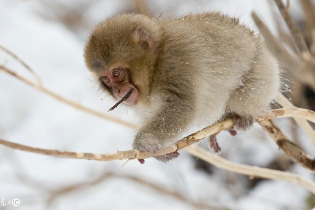
M 25 78 L 25 77 L 23 77 L 23 76 L 21 76 L 21 75 L 15 73 L 15 72 L 13 72 L 12 70 L 8 69 L 8 68 L 5 67 L 5 66 L 0 65 L 0 70 L 6 72 L 6 73 L 8 73 L 8 74 L 10 74 L 11 76 L 13 76 L 13 77 L 19 79 L 20 81 L 22 81 L 22 82 L 24 82 L 24 83 L 30 85 L 31 87 L 35 88 L 36 90 L 39 90 L 39 91 L 41 91 L 41 92 L 43 92 L 43 93 L 45 93 L 45 94 L 47 94 L 47 95 L 49 95 L 49 96 L 55 98 L 56 100 L 58 100 L 58 101 L 60 101 L 60 102 L 63 102 L 63 103 L 66 103 L 66 104 L 68 104 L 68 105 L 70 105 L 70 106 L 72 106 L 72 107 L 74 107 L 74 108 L 76 108 L 76 109 L 78 109 L 78 110 L 81 110 L 81 111 L 90 113 L 90 114 L 92 114 L 92 115 L 94 115 L 94 116 L 96 116 L 96 117 L 99 117 L 99 118 L 102 118 L 102 119 L 105 119 L 105 120 L 109 120 L 109 121 L 112 121 L 112 122 L 115 122 L 115 123 L 124 125 L 124 126 L 126 126 L 126 127 L 130 127 L 130 128 L 133 128 L 133 129 L 137 128 L 136 125 L 134 125 L 134 124 L 132 124 L 132 123 L 130 123 L 130 122 L 127 122 L 127 121 L 125 121 L 125 120 L 117 119 L 117 118 L 115 118 L 115 117 L 106 115 L 106 114 L 104 114 L 104 113 L 102 113 L 102 112 L 95 111 L 94 109 L 85 107 L 85 106 L 83 106 L 83 105 L 81 105 L 81 104 L 79 104 L 79 103 L 76 103 L 76 102 L 74 102 L 74 101 L 71 101 L 71 100 L 69 100 L 69 99 L 66 99 L 66 98 L 64 98 L 63 96 L 61 96 L 61 95 L 59 95 L 59 94 L 53 92 L 52 90 L 49 90 L 49 89 L 44 88 L 43 86 L 37 86 L 37 85 L 34 84 L 32 81 L 30 81 L 30 80 L 28 80 L 27 78 Z

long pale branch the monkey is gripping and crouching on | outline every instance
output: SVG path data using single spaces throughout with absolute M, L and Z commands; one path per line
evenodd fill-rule
M 310 112 L 306 109 L 290 109 L 291 112 L 286 111 L 285 109 L 279 109 L 279 110 L 272 110 L 268 114 L 266 114 L 263 117 L 260 117 L 256 119 L 257 121 L 262 120 L 268 120 L 272 118 L 283 118 L 283 117 L 297 117 L 302 118 L 303 116 L 311 115 L 313 117 L 307 117 L 308 120 L 311 120 L 315 122 L 315 113 Z M 301 114 L 302 113 L 302 114 Z M 307 114 L 308 113 L 308 114 Z M 230 128 L 234 125 L 233 121 L 223 120 L 221 122 L 217 122 L 213 125 L 210 125 L 208 127 L 203 128 L 200 131 L 197 131 L 193 134 L 190 134 L 189 136 L 177 141 L 174 145 L 171 145 L 163 150 L 160 150 L 157 153 L 148 153 L 148 152 L 140 152 L 138 150 L 126 150 L 126 151 L 118 151 L 116 153 L 112 154 L 94 154 L 94 153 L 88 153 L 88 152 L 73 152 L 73 151 L 60 151 L 60 150 L 46 150 L 46 149 L 40 149 L 40 148 L 33 148 L 17 143 L 8 142 L 5 140 L 0 139 L 0 144 L 4 145 L 6 147 L 17 149 L 17 150 L 23 150 L 23 151 L 29 151 L 33 153 L 39 153 L 39 154 L 45 154 L 45 155 L 51 155 L 56 157 L 64 157 L 64 158 L 77 158 L 77 159 L 88 159 L 88 160 L 98 160 L 98 161 L 111 161 L 111 160 L 121 160 L 121 159 L 144 159 L 148 157 L 153 157 L 157 155 L 166 154 L 169 152 L 174 152 L 177 150 L 181 150 L 185 147 L 188 147 L 189 145 L 198 142 L 202 139 L 204 139 L 207 136 L 210 136 L 212 134 L 219 133 L 220 131 Z M 298 146 L 297 146 L 298 148 Z M 283 148 L 282 148 L 283 149 Z M 301 150 L 300 148 L 298 148 Z M 302 151 L 302 150 L 301 150 Z M 304 152 L 300 153 L 301 157 L 292 156 L 291 153 L 287 152 L 288 156 L 290 156 L 293 160 L 305 160 L 304 158 Z M 312 161 L 312 159 L 308 160 Z M 309 164 L 307 162 L 299 162 L 302 166 L 308 167 L 310 170 L 315 169 L 313 167 L 309 167 Z

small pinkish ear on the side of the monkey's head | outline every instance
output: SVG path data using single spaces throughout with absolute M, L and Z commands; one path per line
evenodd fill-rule
M 156 49 L 156 43 L 154 38 L 149 34 L 149 32 L 139 26 L 133 33 L 134 42 L 140 45 L 145 50 L 150 50 L 154 52 Z

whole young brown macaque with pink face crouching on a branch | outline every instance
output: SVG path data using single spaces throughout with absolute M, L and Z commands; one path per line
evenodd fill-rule
M 85 61 L 105 91 L 142 116 L 133 148 L 148 152 L 174 143 L 190 125 L 231 118 L 232 135 L 247 130 L 280 86 L 278 64 L 261 38 L 220 13 L 109 18 L 92 31 Z M 210 139 L 220 150 L 216 136 Z

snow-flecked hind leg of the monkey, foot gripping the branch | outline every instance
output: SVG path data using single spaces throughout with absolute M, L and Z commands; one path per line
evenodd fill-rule
M 234 120 L 234 130 L 249 129 L 253 119 L 269 109 L 269 104 L 279 92 L 278 64 L 266 51 L 260 53 L 227 102 L 226 113 Z

